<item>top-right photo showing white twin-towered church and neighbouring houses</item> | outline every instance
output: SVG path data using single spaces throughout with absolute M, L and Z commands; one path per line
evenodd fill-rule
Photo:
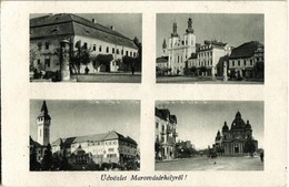
M 263 84 L 263 14 L 158 13 L 157 83 Z

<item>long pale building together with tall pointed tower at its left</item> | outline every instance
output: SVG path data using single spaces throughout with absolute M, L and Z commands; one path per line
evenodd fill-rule
M 37 117 L 38 141 L 34 142 L 30 137 L 30 155 L 32 152 L 37 152 L 39 163 L 43 158 L 48 144 L 51 145 L 53 155 L 64 156 L 71 164 L 89 164 L 92 162 L 94 164 L 124 164 L 138 156 L 137 142 L 114 131 L 103 134 L 58 138 L 50 143 L 51 117 L 46 101 L 43 101 L 40 112 Z

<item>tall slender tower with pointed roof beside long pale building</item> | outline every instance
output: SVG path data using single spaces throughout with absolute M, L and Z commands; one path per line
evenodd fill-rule
M 37 139 L 38 143 L 47 146 L 49 144 L 49 136 L 50 136 L 50 121 L 51 117 L 48 114 L 47 103 L 43 101 L 40 115 L 37 117 Z

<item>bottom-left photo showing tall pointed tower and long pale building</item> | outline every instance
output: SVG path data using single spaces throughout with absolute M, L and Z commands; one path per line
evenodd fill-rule
M 30 100 L 30 170 L 139 170 L 139 100 Z

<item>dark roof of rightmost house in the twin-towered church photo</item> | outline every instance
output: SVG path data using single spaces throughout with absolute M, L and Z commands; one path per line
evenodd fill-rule
M 232 50 L 230 59 L 251 58 L 259 48 L 263 48 L 263 44 L 258 41 L 243 43 Z

